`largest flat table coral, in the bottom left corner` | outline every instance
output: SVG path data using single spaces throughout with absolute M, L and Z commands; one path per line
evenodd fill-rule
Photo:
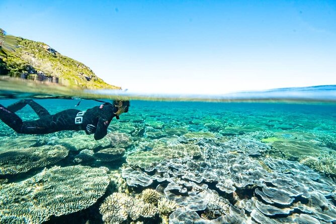
M 107 168 L 53 167 L 18 183 L 4 185 L 0 223 L 42 223 L 96 203 L 109 184 Z

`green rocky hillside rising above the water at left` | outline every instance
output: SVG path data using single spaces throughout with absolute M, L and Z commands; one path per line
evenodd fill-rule
M 6 39 L 11 43 L 6 43 Z M 49 45 L 6 36 L 1 28 L 0 76 L 58 83 L 70 88 L 121 89 L 107 84 L 88 66 L 61 55 Z

